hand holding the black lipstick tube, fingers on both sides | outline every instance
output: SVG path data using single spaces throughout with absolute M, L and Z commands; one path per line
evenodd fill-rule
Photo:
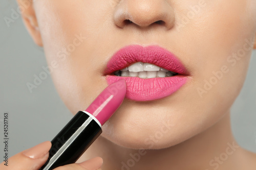
M 49 157 L 51 142 L 45 141 L 33 148 L 20 152 L 8 159 L 8 166 L 5 162 L 0 164 L 1 170 L 38 170 L 45 164 Z M 73 163 L 59 166 L 54 170 L 96 170 L 102 165 L 102 158 L 96 157 L 81 163 Z

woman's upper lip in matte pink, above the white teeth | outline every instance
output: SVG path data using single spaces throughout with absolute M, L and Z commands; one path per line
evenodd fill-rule
M 105 74 L 112 74 L 116 70 L 123 69 L 135 62 L 152 63 L 169 71 L 187 75 L 186 68 L 178 58 L 168 50 L 158 45 L 129 45 L 117 51 L 109 60 Z

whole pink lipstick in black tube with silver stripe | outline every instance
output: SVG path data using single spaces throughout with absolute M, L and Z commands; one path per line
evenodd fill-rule
M 51 141 L 49 158 L 39 170 L 75 163 L 102 133 L 101 126 L 122 104 L 125 93 L 125 81 L 117 81 L 106 87 L 85 111 L 78 111 Z

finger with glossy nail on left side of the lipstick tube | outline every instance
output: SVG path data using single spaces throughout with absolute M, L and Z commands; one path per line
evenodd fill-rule
M 1 170 L 38 170 L 49 157 L 51 142 L 45 141 L 35 147 L 20 152 L 8 159 L 8 166 L 5 162 L 0 164 Z

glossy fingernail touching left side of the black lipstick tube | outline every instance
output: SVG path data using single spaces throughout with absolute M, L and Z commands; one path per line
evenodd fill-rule
M 49 152 L 51 145 L 50 141 L 45 141 L 26 150 L 23 154 L 33 159 L 42 158 Z

